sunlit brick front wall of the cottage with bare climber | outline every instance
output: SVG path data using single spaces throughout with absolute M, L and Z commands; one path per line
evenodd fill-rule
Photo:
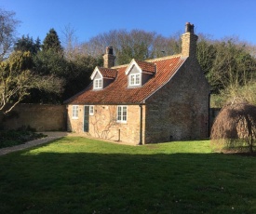
M 72 118 L 72 105 L 69 105 L 68 130 L 95 138 L 138 144 L 140 141 L 141 107 L 139 105 L 128 105 L 127 107 L 127 123 L 117 123 L 117 105 L 94 105 L 94 115 L 89 115 L 89 130 L 84 132 L 84 105 L 79 105 L 77 119 Z M 142 124 L 144 126 L 144 120 Z

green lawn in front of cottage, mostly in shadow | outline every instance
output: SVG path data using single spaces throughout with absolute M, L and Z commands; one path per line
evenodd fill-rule
M 256 213 L 256 158 L 67 137 L 0 156 L 0 213 Z

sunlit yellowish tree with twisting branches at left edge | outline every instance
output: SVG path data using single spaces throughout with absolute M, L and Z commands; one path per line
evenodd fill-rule
M 0 113 L 7 114 L 30 95 L 31 88 L 60 93 L 62 80 L 53 75 L 34 74 L 30 52 L 14 52 L 0 63 Z

